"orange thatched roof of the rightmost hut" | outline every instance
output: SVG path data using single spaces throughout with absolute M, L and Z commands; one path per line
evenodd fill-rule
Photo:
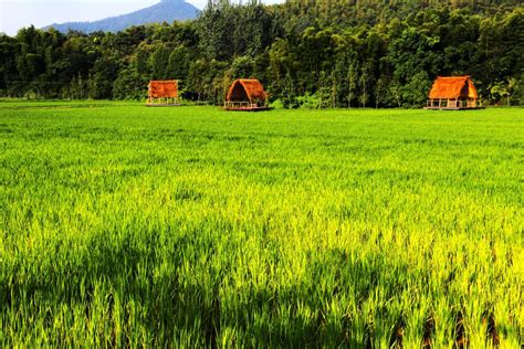
M 431 99 L 479 98 L 473 81 L 464 76 L 438 76 L 429 92 Z

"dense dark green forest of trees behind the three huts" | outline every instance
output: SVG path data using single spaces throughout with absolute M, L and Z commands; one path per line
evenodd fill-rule
M 118 33 L 0 36 L 0 96 L 140 99 L 176 78 L 220 104 L 256 77 L 284 107 L 418 107 L 437 75 L 471 75 L 484 104 L 524 105 L 518 0 L 209 1 L 197 20 Z

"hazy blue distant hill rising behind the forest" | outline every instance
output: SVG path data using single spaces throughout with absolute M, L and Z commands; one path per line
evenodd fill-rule
M 192 20 L 197 17 L 198 12 L 199 10 L 196 7 L 184 0 L 161 0 L 157 4 L 128 14 L 111 17 L 93 22 L 51 24 L 44 29 L 52 27 L 60 32 L 66 32 L 69 30 L 77 30 L 85 33 L 95 31 L 117 32 L 132 25 Z

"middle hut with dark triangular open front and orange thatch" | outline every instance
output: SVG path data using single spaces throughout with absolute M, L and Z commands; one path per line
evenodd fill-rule
M 239 78 L 229 87 L 223 107 L 227 110 L 265 110 L 268 94 L 255 78 Z

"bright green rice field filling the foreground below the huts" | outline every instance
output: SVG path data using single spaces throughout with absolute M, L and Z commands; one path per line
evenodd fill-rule
M 0 103 L 0 347 L 518 347 L 523 117 Z

